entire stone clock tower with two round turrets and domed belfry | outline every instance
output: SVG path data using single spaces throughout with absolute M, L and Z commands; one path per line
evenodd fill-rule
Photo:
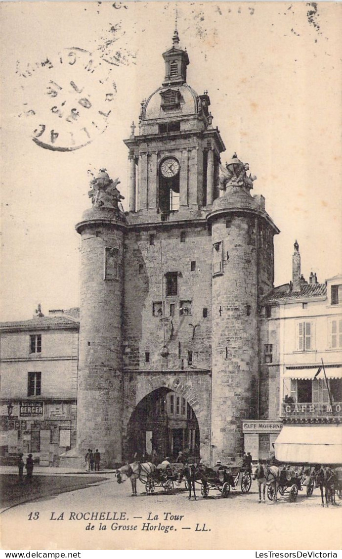
M 132 124 L 128 211 L 105 169 L 81 235 L 78 456 L 223 461 L 258 416 L 258 308 L 278 229 L 225 150 L 178 32 Z M 223 176 L 222 176 L 223 173 Z

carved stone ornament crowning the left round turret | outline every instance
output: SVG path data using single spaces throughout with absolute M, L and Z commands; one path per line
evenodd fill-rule
M 100 169 L 98 176 L 91 180 L 91 190 L 88 192 L 94 207 L 111 208 L 123 212 L 121 200 L 125 196 L 120 194 L 117 185 L 120 184 L 118 178 L 113 181 L 107 173 L 107 169 Z

